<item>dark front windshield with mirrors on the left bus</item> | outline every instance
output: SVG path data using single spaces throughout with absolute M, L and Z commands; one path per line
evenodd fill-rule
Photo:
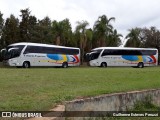
M 19 57 L 24 45 L 18 46 L 8 46 L 6 49 L 1 51 L 1 56 L 3 60 L 8 60 L 11 58 Z

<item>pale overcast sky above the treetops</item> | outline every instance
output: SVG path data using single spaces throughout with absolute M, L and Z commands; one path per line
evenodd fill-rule
M 86 20 L 93 28 L 99 16 L 115 17 L 111 22 L 124 37 L 135 27 L 160 29 L 160 0 L 0 0 L 0 11 L 6 19 L 19 17 L 20 10 L 29 8 L 38 19 L 48 16 L 61 21 L 68 18 L 72 29 L 77 21 Z

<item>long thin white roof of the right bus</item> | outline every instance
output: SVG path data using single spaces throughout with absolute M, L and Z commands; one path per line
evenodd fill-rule
M 98 47 L 92 50 L 99 50 L 99 49 L 115 49 L 115 50 L 157 50 L 156 48 L 134 48 L 134 47 Z

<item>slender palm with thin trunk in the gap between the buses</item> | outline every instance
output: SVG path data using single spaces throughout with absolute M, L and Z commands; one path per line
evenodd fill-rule
M 86 35 L 86 27 L 89 25 L 89 23 L 87 21 L 82 21 L 82 22 L 77 22 L 77 27 L 76 27 L 76 33 L 79 35 L 78 39 L 79 39 L 79 46 L 81 49 L 81 64 L 83 64 L 84 61 L 84 49 L 86 47 L 87 44 L 87 35 Z

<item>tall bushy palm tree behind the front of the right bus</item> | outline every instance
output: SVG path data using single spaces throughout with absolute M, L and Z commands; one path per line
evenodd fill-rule
M 94 35 L 98 40 L 98 46 L 106 46 L 106 38 L 109 37 L 112 32 L 113 26 L 110 24 L 111 21 L 115 20 L 114 17 L 107 18 L 106 15 L 102 15 L 94 24 Z

